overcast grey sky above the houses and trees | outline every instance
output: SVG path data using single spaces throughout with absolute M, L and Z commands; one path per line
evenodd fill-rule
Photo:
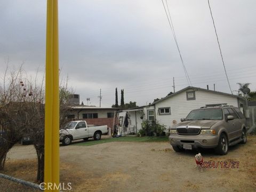
M 164 0 L 165 2 L 165 0 Z M 193 86 L 230 93 L 206 0 L 167 0 L 181 55 Z M 256 2 L 211 0 L 232 90 L 256 90 Z M 0 74 L 24 62 L 28 75 L 45 67 L 46 1 L 0 0 Z M 188 86 L 161 0 L 59 0 L 61 78 L 81 102 L 146 105 Z M 234 92 L 237 94 L 237 92 Z

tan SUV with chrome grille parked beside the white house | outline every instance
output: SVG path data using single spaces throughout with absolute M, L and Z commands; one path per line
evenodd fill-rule
M 246 120 L 233 106 L 201 107 L 170 130 L 169 141 L 175 151 L 193 148 L 214 148 L 220 155 L 229 146 L 246 143 Z

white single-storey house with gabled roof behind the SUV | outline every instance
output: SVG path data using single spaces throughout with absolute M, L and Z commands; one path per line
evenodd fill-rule
M 157 120 L 160 124 L 165 125 L 166 129 L 169 129 L 173 124 L 179 123 L 180 118 L 185 118 L 193 109 L 205 107 L 205 105 L 227 103 L 226 105 L 239 107 L 243 110 L 244 102 L 243 97 L 238 95 L 188 86 L 155 101 L 149 106 L 126 111 L 129 113 L 130 119 L 134 119 L 131 121 L 131 125 L 135 126 L 137 131 L 141 129 L 142 119 L 138 120 L 138 114 L 142 114 L 142 111 L 145 114 L 143 120 Z

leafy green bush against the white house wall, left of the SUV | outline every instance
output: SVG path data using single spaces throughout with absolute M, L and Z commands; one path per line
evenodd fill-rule
M 139 134 L 141 136 L 163 136 L 165 135 L 165 126 L 159 124 L 157 121 L 151 121 L 148 120 L 143 121 L 141 124 L 141 130 L 139 131 Z

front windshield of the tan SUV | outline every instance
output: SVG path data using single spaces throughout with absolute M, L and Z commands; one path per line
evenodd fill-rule
M 222 109 L 198 109 L 191 111 L 186 117 L 186 121 L 191 120 L 221 120 L 223 118 Z

